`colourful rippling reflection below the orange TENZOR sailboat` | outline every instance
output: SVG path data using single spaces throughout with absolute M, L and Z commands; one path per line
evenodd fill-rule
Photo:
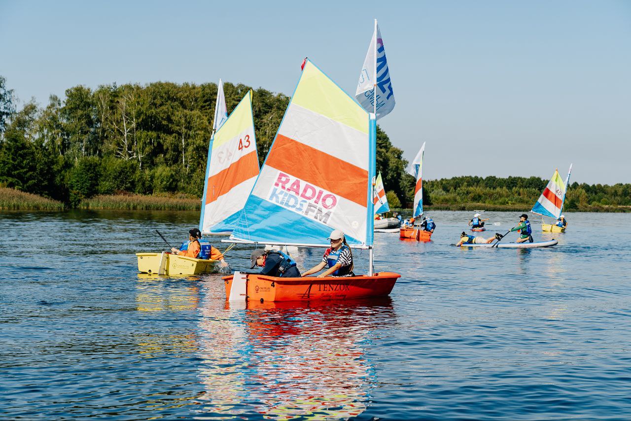
M 198 336 L 204 415 L 323 419 L 366 409 L 376 374 L 365 347 L 376 326 L 394 323 L 389 297 L 208 304 Z

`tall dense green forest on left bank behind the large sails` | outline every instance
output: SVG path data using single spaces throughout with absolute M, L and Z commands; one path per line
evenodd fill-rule
M 250 86 L 225 83 L 231 112 Z M 201 196 L 217 97 L 215 83 L 73 86 L 16 110 L 0 76 L 0 184 L 78 206 L 95 194 Z M 290 98 L 253 90 L 262 163 Z M 388 191 L 406 194 L 403 151 L 377 129 L 377 169 Z M 407 183 L 407 184 L 406 184 Z

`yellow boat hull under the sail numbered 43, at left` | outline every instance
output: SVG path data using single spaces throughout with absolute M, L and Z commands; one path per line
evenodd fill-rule
M 158 275 L 201 275 L 213 273 L 216 260 L 193 259 L 178 254 L 136 253 L 138 271 Z

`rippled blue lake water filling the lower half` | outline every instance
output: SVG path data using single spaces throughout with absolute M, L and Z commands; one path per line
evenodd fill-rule
M 520 213 L 485 212 L 481 235 Z M 0 213 L 0 416 L 631 417 L 631 214 L 569 213 L 534 231 L 546 249 L 456 248 L 472 212 L 429 215 L 432 242 L 375 234 L 390 297 L 246 307 L 217 275 L 138 275 L 153 230 L 181 242 L 196 213 Z

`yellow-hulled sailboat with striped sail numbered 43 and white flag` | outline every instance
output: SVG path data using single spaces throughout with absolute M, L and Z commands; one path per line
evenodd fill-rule
M 259 158 L 254 135 L 252 91 L 245 94 L 228 117 L 220 80 L 199 216 L 199 230 L 203 235 L 227 235 L 232 232 L 257 175 Z M 199 242 L 202 249 L 210 249 L 208 239 L 200 239 Z M 184 250 L 187 246 L 185 243 L 180 249 Z M 158 275 L 213 273 L 217 262 L 169 252 L 141 252 L 136 256 L 138 271 Z

